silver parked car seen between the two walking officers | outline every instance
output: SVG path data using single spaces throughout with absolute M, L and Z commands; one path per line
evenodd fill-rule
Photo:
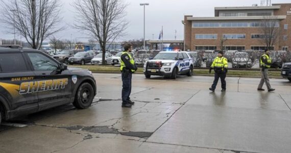
M 232 59 L 232 68 L 251 68 L 253 66 L 253 62 L 250 58 L 250 55 L 246 52 L 237 52 L 235 53 Z

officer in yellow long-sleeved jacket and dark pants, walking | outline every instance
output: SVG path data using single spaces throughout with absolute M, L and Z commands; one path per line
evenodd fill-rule
M 217 82 L 219 81 L 219 78 L 221 80 L 221 87 L 222 87 L 221 91 L 224 92 L 226 90 L 225 78 L 226 78 L 226 73 L 227 73 L 227 67 L 228 67 L 227 58 L 223 57 L 223 51 L 220 50 L 209 69 L 209 73 L 211 73 L 212 69 L 214 69 L 214 72 L 215 72 L 214 81 L 211 88 L 209 88 L 209 90 L 214 92 Z

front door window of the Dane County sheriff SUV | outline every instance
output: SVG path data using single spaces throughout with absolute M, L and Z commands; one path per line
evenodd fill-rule
M 58 68 L 57 63 L 42 54 L 28 53 L 28 56 L 35 70 L 56 70 Z

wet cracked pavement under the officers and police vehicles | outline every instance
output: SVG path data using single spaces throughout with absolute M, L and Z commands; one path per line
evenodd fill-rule
M 258 78 L 176 80 L 133 75 L 133 108 L 121 107 L 120 74 L 93 74 L 92 107 L 65 105 L 0 126 L 0 152 L 290 152 L 291 83 Z M 264 86 L 265 88 L 265 86 Z

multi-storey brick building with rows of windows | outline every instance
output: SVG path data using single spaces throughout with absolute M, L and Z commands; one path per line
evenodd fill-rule
M 279 29 L 274 50 L 291 50 L 291 4 L 252 7 L 215 7 L 214 17 L 184 16 L 185 50 L 262 50 L 266 34 L 261 24 L 266 18 Z

